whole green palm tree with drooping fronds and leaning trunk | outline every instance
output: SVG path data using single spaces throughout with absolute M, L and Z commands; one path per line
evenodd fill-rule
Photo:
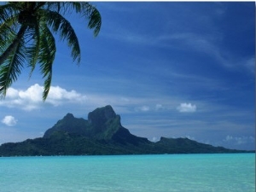
M 48 96 L 55 60 L 55 38 L 67 41 L 73 61 L 80 62 L 79 40 L 64 15 L 76 13 L 88 20 L 94 35 L 100 31 L 99 11 L 84 2 L 9 2 L 0 6 L 0 96 L 17 80 L 21 69 L 40 65 L 43 100 Z

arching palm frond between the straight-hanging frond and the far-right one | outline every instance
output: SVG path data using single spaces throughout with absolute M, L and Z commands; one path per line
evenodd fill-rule
M 66 20 L 62 15 L 53 11 L 44 11 L 48 26 L 51 26 L 54 32 L 59 32 L 61 40 L 67 39 L 67 46 L 71 48 L 71 56 L 73 61 L 80 62 L 80 47 L 79 39 L 73 30 L 70 22 Z

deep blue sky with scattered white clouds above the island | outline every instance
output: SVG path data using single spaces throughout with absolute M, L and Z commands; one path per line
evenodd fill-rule
M 94 2 L 98 37 L 66 15 L 81 62 L 56 38 L 53 79 L 24 68 L 0 100 L 0 143 L 43 137 L 67 113 L 111 105 L 131 134 L 255 149 L 255 3 Z

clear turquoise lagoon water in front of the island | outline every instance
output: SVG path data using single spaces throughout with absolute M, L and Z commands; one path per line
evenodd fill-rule
M 0 158 L 1 192 L 254 192 L 255 154 Z

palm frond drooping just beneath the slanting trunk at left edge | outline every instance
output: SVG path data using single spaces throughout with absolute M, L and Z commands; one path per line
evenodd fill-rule
M 15 47 L 14 53 L 0 67 L 0 95 L 6 96 L 6 91 L 21 73 L 25 61 L 25 45 L 23 39 Z

